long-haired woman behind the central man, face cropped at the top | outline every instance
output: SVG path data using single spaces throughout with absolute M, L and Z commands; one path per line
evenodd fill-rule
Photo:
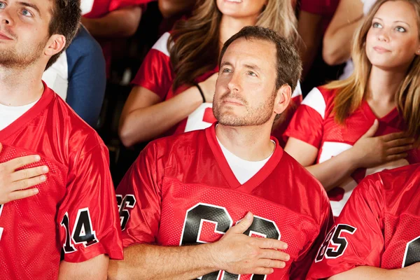
M 193 16 L 165 33 L 146 56 L 124 106 L 119 134 L 125 146 L 209 127 L 218 55 L 247 25 L 269 27 L 297 40 L 290 1 L 202 0 Z M 255 50 L 258 51 L 258 50 Z M 300 102 L 300 87 L 294 92 Z

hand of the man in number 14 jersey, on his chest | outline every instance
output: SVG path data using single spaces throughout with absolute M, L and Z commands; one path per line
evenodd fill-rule
M 3 146 L 0 144 L 0 153 Z M 36 195 L 37 188 L 31 188 L 46 180 L 43 174 L 48 173 L 48 167 L 33 167 L 20 169 L 25 165 L 41 160 L 39 155 L 27 155 L 0 163 L 0 204 Z

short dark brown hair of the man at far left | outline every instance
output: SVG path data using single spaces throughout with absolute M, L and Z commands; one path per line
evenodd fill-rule
M 76 36 L 80 25 L 80 0 L 52 0 L 51 21 L 48 34 L 62 34 L 66 37 L 66 45 L 61 52 L 52 55 L 45 69 L 57 61 L 59 55 L 69 47 Z

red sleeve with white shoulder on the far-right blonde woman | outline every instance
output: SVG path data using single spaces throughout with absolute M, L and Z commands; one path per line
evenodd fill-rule
M 289 137 L 293 137 L 315 148 L 320 148 L 325 110 L 326 102 L 323 94 L 315 87 L 297 108 L 283 134 L 283 140 L 287 142 Z

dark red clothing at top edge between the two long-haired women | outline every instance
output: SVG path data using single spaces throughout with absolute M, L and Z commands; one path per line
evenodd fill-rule
M 307 13 L 322 15 L 323 33 L 330 24 L 335 10 L 337 10 L 339 0 L 301 0 L 300 10 Z

